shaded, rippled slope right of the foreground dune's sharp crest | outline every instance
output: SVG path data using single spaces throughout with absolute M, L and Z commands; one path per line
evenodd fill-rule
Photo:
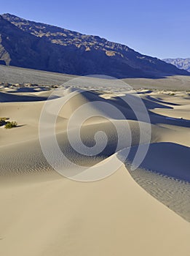
M 143 145 L 140 147 L 143 150 Z M 175 143 L 152 143 L 140 166 L 131 170 L 136 151 L 137 147 L 132 147 L 124 162 L 132 178 L 151 196 L 190 222 L 190 148 Z M 118 157 L 122 159 L 123 153 Z

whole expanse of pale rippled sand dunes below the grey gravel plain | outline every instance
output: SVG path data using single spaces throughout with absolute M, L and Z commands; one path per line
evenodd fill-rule
M 189 92 L 75 87 L 1 86 L 0 255 L 188 256 Z

